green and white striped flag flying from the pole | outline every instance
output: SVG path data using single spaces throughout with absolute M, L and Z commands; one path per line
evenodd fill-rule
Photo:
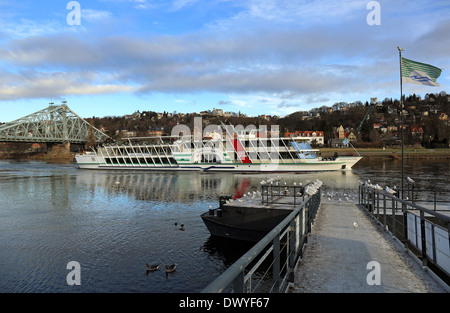
M 402 57 L 402 80 L 405 83 L 440 86 L 436 82 L 442 70 L 436 66 L 419 63 Z

